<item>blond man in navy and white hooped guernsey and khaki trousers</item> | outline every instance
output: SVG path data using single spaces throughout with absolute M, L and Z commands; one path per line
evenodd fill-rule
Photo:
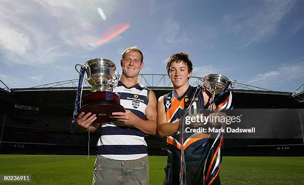
M 120 61 L 122 77 L 113 90 L 126 113 L 113 113 L 114 122 L 101 125 L 94 165 L 93 185 L 149 185 L 146 134 L 156 131 L 156 98 L 153 91 L 138 82 L 144 66 L 143 53 L 127 48 Z M 95 131 L 96 115 L 79 114 L 77 124 Z

